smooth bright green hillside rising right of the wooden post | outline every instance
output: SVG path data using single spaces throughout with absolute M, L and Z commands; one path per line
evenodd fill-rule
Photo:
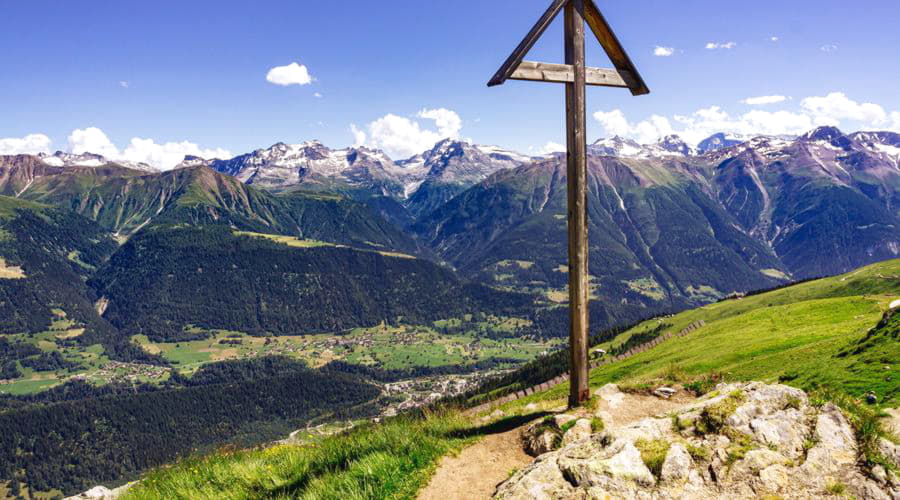
M 679 332 L 699 320 L 705 326 L 593 370 L 591 384 L 640 386 L 661 383 L 673 374 L 685 380 L 717 374 L 726 379 L 780 381 L 806 390 L 830 387 L 856 397 L 874 391 L 881 404 L 896 406 L 900 343 L 873 329 L 888 304 L 898 298 L 900 260 L 891 260 L 653 319 L 595 349 L 615 349 L 639 334 L 645 334 L 646 342 L 649 332 Z M 892 319 L 889 325 L 895 322 Z M 533 398 L 562 399 L 565 390 L 560 386 Z

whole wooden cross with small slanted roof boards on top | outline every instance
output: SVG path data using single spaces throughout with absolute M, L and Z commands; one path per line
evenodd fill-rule
M 553 19 L 565 10 L 565 64 L 525 61 L 525 55 L 544 34 Z M 615 69 L 590 68 L 584 63 L 584 25 L 594 36 Z M 587 235 L 587 140 L 585 137 L 585 86 L 622 87 L 638 96 L 650 93 L 615 33 L 594 0 L 553 0 L 516 50 L 488 82 L 506 80 L 564 83 L 566 85 L 566 149 L 569 226 L 569 406 L 590 398 L 588 386 L 588 235 Z

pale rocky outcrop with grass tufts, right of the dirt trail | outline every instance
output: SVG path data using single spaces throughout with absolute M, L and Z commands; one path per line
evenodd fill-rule
M 597 395 L 615 400 L 617 392 L 607 386 Z M 495 498 L 806 499 L 843 491 L 900 499 L 894 473 L 860 468 L 855 433 L 837 406 L 811 406 L 783 385 L 720 384 L 670 414 L 594 434 L 586 419 L 550 418 L 534 428 L 556 420 L 571 436 L 562 434 L 559 449 L 501 484 Z M 880 447 L 898 458 L 894 443 Z

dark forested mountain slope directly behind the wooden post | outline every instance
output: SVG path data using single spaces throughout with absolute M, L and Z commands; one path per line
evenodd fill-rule
M 590 263 L 605 303 L 678 308 L 779 282 L 784 269 L 678 162 L 589 159 Z M 564 290 L 563 158 L 502 171 L 414 227 L 471 276 Z

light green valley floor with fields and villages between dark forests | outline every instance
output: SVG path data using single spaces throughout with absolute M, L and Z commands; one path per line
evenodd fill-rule
M 516 337 L 517 328 L 530 322 L 521 318 L 471 315 L 435 321 L 429 326 L 386 324 L 355 328 L 339 334 L 254 337 L 229 330 L 189 328 L 200 340 L 151 342 L 145 335 L 133 335 L 131 341 L 151 354 L 159 354 L 172 368 L 134 363 L 117 363 L 104 355 L 103 346 L 74 346 L 67 340 L 84 328 L 66 318 L 65 311 L 54 310 L 51 329 L 35 335 L 6 335 L 11 342 L 24 341 L 42 351 L 58 351 L 67 361 L 82 365 L 79 370 L 34 372 L 19 367 L 22 376 L 0 384 L 0 392 L 21 395 L 39 392 L 78 377 L 102 385 L 112 381 L 160 383 L 168 380 L 170 370 L 190 375 L 201 366 L 219 361 L 268 355 L 288 356 L 320 367 L 340 360 L 386 370 L 418 367 L 467 366 L 498 361 L 503 368 L 535 359 L 561 345 L 559 340 L 535 341 Z M 66 345 L 69 344 L 69 345 Z

